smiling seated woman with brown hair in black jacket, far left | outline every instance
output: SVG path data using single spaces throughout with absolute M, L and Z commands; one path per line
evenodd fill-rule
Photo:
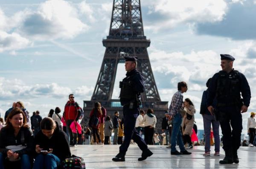
M 30 169 L 29 156 L 32 151 L 33 134 L 27 125 L 26 116 L 23 110 L 15 108 L 7 116 L 6 126 L 0 130 L 0 169 L 4 169 L 4 164 L 10 167 L 15 161 L 20 161 L 20 166 L 15 168 Z

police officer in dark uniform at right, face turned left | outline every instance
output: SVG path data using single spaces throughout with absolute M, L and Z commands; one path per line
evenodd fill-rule
M 234 60 L 231 55 L 221 54 L 222 70 L 215 73 L 208 88 L 207 107 L 220 122 L 223 134 L 225 158 L 219 161 L 220 164 L 239 163 L 237 149 L 241 144 L 243 128 L 241 113 L 247 112 L 251 98 L 250 87 L 244 74 L 233 69 Z M 215 97 L 216 109 L 212 107 Z

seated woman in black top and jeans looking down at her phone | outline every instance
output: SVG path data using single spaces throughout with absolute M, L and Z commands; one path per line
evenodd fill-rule
M 35 169 L 57 169 L 61 161 L 71 156 L 67 135 L 59 130 L 49 117 L 41 121 L 41 130 L 35 136 Z

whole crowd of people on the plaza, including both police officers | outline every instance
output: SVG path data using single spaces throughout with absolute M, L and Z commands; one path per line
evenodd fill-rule
M 241 146 L 241 113 L 246 112 L 250 104 L 250 87 L 245 76 L 233 69 L 234 60 L 233 56 L 221 54 L 222 70 L 207 81 L 200 107 L 204 121 L 204 156 L 210 156 L 212 145 L 215 146 L 214 156 L 220 155 L 221 127 L 225 158 L 219 161 L 220 164 L 239 163 L 237 149 Z M 70 146 L 111 144 L 112 132 L 113 144 L 121 144 L 113 161 L 125 161 L 128 146 L 133 141 L 142 150 L 138 161 L 153 155 L 147 145 L 160 145 L 161 142 L 171 149 L 171 155 L 190 155 L 191 152 L 186 149 L 193 148 L 198 138 L 194 104 L 189 98 L 183 101 L 183 93 L 188 90 L 187 83 L 178 82 L 177 92 L 172 96 L 169 110 L 162 120 L 162 133 L 155 133 L 157 118 L 154 110 L 140 110 L 140 93 L 144 92 L 144 82 L 136 66 L 136 57 L 125 57 L 127 73 L 119 86 L 123 118 L 119 118 L 116 111 L 111 119 L 105 107 L 95 102 L 89 115 L 89 126 L 83 127 L 80 120 L 84 113 L 73 94 L 69 95 L 63 114 L 56 107 L 49 111 L 46 118 L 42 118 L 38 110 L 29 117 L 24 104 L 14 102 L 6 111 L 4 121 L 0 118 L 0 169 L 12 165 L 19 165 L 21 169 L 32 166 L 36 169 L 56 168 L 71 156 Z M 248 118 L 247 130 L 249 146 L 254 146 L 256 122 L 253 112 Z

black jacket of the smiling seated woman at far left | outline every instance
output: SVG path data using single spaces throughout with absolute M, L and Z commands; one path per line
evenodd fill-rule
M 25 149 L 21 149 L 17 151 L 17 153 L 21 156 L 23 154 L 31 154 L 34 151 L 34 138 L 31 130 L 26 127 L 21 127 L 17 136 L 14 135 L 14 129 L 12 127 L 3 127 L 0 130 L 0 152 L 4 155 L 7 154 L 9 149 L 6 149 L 6 146 L 17 146 L 21 145 L 21 132 L 24 132 L 24 142 L 23 145 L 27 147 Z

